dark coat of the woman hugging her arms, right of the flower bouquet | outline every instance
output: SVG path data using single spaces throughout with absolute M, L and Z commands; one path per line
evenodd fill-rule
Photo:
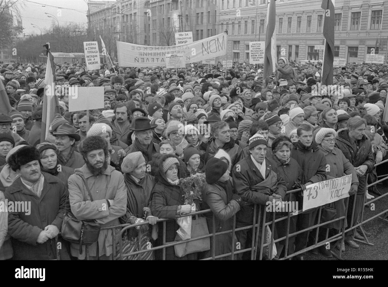
M 231 183 L 229 183 L 231 185 Z M 216 183 L 204 185 L 202 190 L 203 209 L 211 209 L 211 213 L 206 213 L 209 233 L 213 232 L 213 214 L 215 216 L 215 232 L 232 230 L 233 215 L 240 210 L 240 205 L 236 200 L 232 200 L 233 194 L 227 194 L 226 190 Z M 237 238 L 235 237 L 235 241 Z M 210 250 L 213 240 L 210 240 Z M 232 233 L 217 235 L 215 239 L 215 255 L 232 252 Z M 229 257 L 223 257 L 230 260 Z

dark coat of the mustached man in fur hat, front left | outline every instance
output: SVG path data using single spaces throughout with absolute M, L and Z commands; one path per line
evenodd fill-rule
M 57 258 L 57 244 L 54 239 L 39 244 L 38 236 L 47 225 L 62 227 L 67 198 L 65 185 L 55 176 L 42 173 L 43 190 L 40 197 L 30 191 L 17 178 L 5 189 L 9 201 L 31 202 L 30 214 L 25 212 L 8 213 L 8 233 L 12 237 L 15 260 L 50 260 Z

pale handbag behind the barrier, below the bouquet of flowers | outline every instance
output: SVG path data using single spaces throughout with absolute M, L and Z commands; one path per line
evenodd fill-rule
M 206 218 L 198 217 L 198 215 L 196 215 L 196 219 L 191 221 L 191 238 L 200 237 L 208 234 L 209 229 L 208 223 L 206 222 Z M 177 236 L 175 236 L 175 241 L 182 241 L 178 234 Z M 177 244 L 174 246 L 174 249 L 175 256 L 177 257 L 184 257 L 187 254 L 208 251 L 210 250 L 210 237 Z

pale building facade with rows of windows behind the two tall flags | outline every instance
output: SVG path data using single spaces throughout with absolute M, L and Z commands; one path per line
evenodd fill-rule
M 322 60 L 322 0 L 277 0 L 277 57 L 292 61 Z M 265 41 L 267 0 L 219 0 L 220 29 L 229 31 L 228 52 L 219 60 L 249 61 L 249 42 Z M 257 12 L 256 12 L 257 11 Z M 388 1 L 336 0 L 334 57 L 364 62 L 371 52 L 386 59 Z

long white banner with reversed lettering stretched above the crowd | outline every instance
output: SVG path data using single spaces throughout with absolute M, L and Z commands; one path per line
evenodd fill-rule
M 166 66 L 166 54 L 184 54 L 186 64 L 226 54 L 227 34 L 221 33 L 184 45 L 156 47 L 116 41 L 121 67 Z

